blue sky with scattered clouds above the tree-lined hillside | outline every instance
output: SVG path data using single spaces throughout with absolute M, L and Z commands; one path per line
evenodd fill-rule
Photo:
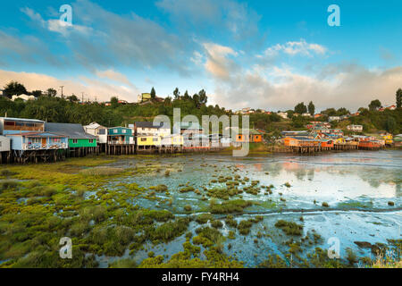
M 208 104 L 234 110 L 391 105 L 402 88 L 400 11 L 399 0 L 7 1 L 0 88 L 18 80 L 129 102 L 152 87 L 159 97 L 204 88 Z

